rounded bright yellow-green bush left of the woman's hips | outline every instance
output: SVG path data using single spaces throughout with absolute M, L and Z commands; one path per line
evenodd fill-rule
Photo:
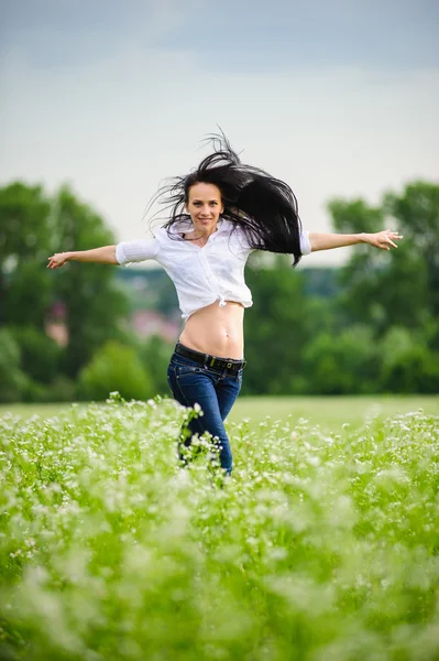
M 81 370 L 78 394 L 80 399 L 105 400 L 112 391 L 127 400 L 144 400 L 154 394 L 151 377 L 135 349 L 109 340 Z

